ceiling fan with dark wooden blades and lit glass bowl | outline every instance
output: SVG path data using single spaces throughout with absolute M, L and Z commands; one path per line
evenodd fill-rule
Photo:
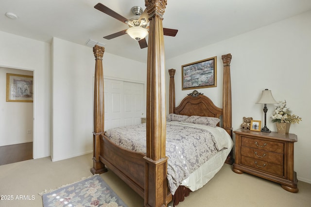
M 147 41 L 145 37 L 148 35 L 148 14 L 147 10 L 145 9 L 142 12 L 142 8 L 140 6 L 132 7 L 132 13 L 134 17 L 131 19 L 127 19 L 115 11 L 109 9 L 102 3 L 98 3 L 94 6 L 95 9 L 104 12 L 106 15 L 114 17 L 115 19 L 127 24 L 129 26 L 128 29 L 122 30 L 120 32 L 116 32 L 107 36 L 104 36 L 105 39 L 110 40 L 115 37 L 119 37 L 123 34 L 129 34 L 133 39 L 137 40 L 139 43 L 140 48 L 147 48 Z M 163 28 L 163 34 L 167 36 L 176 36 L 178 30 Z

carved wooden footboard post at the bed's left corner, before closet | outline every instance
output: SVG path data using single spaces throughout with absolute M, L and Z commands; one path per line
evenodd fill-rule
M 100 135 L 104 134 L 104 72 L 103 56 L 104 47 L 95 45 L 95 82 L 94 82 L 94 131 L 93 131 L 93 168 L 92 174 L 101 174 L 107 171 L 104 164 L 99 160 Z

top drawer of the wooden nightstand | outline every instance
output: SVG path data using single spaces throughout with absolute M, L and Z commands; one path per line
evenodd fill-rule
M 284 144 L 241 136 L 241 145 L 270 152 L 284 153 Z

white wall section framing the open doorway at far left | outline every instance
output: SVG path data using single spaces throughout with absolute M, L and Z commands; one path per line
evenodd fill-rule
M 34 71 L 34 159 L 50 156 L 51 45 L 0 32 L 0 66 Z

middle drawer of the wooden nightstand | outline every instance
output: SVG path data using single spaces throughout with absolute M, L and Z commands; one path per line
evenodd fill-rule
M 283 165 L 283 154 L 241 146 L 241 155 L 261 161 Z

